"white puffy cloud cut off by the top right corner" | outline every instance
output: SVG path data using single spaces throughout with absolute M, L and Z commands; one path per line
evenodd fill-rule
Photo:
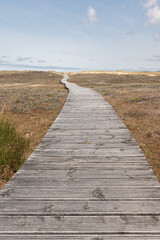
M 148 0 L 144 3 L 144 7 L 147 9 L 148 23 L 159 24 L 160 23 L 160 4 L 158 0 Z

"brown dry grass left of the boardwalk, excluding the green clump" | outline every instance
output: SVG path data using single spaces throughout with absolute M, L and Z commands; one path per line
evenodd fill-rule
M 55 72 L 0 72 L 0 118 L 7 118 L 30 141 L 27 158 L 61 111 L 67 90 Z M 0 175 L 0 189 L 14 172 Z

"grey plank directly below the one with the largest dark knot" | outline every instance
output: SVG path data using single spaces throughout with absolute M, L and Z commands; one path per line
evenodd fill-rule
M 160 214 L 159 200 L 144 201 L 48 201 L 6 200 L 0 201 L 0 215 L 146 215 Z

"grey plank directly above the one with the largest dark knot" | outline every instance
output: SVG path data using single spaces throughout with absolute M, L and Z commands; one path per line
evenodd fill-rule
M 44 179 L 44 178 L 13 178 L 7 186 L 43 186 L 43 187 L 58 187 L 58 186 L 68 186 L 68 187 L 103 187 L 103 186 L 159 186 L 159 182 L 155 177 L 132 177 L 132 178 L 60 178 L 60 179 Z

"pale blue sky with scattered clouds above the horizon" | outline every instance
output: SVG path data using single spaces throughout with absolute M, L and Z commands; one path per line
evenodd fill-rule
M 160 70 L 160 0 L 0 0 L 0 69 Z

